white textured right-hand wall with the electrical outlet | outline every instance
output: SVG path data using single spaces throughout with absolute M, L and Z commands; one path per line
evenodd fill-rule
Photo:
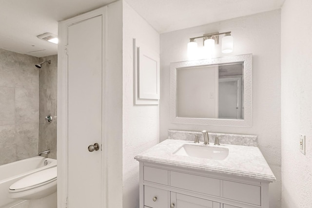
M 312 1 L 286 0 L 281 15 L 282 207 L 312 208 Z M 293 33 L 300 32 L 296 38 Z M 306 135 L 306 155 L 299 151 Z

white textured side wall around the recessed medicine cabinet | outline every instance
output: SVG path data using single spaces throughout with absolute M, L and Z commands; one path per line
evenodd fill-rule
M 134 105 L 133 38 L 159 54 L 159 34 L 125 1 L 122 4 L 122 208 L 138 208 L 139 163 L 134 157 L 159 142 L 159 105 Z

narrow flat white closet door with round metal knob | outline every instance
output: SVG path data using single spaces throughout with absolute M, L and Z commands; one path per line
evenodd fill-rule
M 98 16 L 68 26 L 69 208 L 102 207 L 102 25 Z

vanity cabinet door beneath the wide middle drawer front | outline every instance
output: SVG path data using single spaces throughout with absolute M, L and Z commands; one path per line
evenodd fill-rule
M 220 208 L 220 203 L 171 192 L 170 205 L 174 208 Z

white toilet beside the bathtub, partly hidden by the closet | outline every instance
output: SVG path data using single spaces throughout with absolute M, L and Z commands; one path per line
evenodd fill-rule
M 57 191 L 57 167 L 41 170 L 12 184 L 9 198 L 40 199 Z

